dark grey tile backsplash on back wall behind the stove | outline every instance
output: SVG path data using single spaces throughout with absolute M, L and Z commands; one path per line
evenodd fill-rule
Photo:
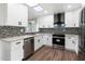
M 58 34 L 58 35 L 65 35 L 65 34 L 80 35 L 81 29 L 79 27 L 72 27 L 72 28 L 40 28 L 40 33 L 55 33 L 55 34 Z

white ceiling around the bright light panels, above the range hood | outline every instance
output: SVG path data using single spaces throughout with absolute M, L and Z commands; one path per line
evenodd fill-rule
M 28 20 L 32 20 L 38 16 L 54 14 L 59 12 L 73 11 L 81 8 L 81 3 L 39 3 L 44 10 L 48 13 L 44 13 L 43 11 L 37 12 L 31 7 L 28 7 Z M 71 5 L 69 9 L 68 5 Z

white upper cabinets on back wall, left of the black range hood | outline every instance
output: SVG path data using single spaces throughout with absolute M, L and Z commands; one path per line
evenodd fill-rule
M 54 26 L 54 15 L 46 15 L 37 18 L 39 28 L 51 28 Z

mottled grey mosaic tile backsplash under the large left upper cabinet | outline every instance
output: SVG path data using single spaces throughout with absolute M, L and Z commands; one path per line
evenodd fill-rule
M 25 34 L 25 27 L 0 26 L 0 38 L 20 36 Z

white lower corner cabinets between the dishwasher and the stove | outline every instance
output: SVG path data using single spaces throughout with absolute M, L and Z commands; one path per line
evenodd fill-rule
M 34 51 L 37 51 L 43 44 L 52 46 L 52 34 L 36 35 L 36 37 L 34 37 Z

